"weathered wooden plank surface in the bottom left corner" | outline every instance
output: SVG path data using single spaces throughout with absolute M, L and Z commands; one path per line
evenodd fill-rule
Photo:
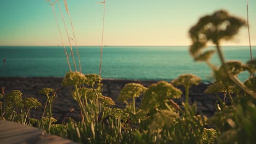
M 62 137 L 46 134 L 38 128 L 0 121 L 0 143 L 70 143 L 75 142 Z

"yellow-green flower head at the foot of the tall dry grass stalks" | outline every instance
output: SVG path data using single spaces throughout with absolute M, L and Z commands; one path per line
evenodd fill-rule
M 78 71 L 69 71 L 66 73 L 66 76 L 62 80 L 62 86 L 70 86 L 70 85 L 82 85 L 86 82 L 86 77 L 84 74 Z

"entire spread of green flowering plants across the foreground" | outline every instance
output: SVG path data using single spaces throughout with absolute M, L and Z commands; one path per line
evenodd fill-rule
M 222 39 L 231 39 L 245 21 L 229 15 L 224 10 L 202 17 L 189 33 L 193 44 L 190 54 L 196 61 L 209 62 L 213 50 L 203 51 L 211 41 L 216 44 L 222 65 L 213 68 L 216 82 L 206 89 L 206 93 L 224 93 L 224 102 L 219 102 L 211 118 L 198 115 L 196 103 L 188 103 L 189 87 L 198 85 L 201 78 L 193 74 L 183 74 L 173 80 L 173 85 L 183 85 L 186 89 L 186 103 L 179 107 L 172 99 L 181 98 L 182 92 L 166 81 L 159 81 L 148 88 L 137 83 L 129 83 L 121 90 L 118 100 L 124 101 L 125 109 L 113 108 L 114 101 L 102 95 L 102 78 L 96 74 L 72 72 L 66 74 L 63 86 L 74 86 L 72 97 L 77 101 L 79 122 L 68 119 L 67 123 L 54 124 L 53 102 L 57 95 L 54 89 L 44 88 L 39 93 L 46 95 L 46 116 L 41 119 L 29 118 L 31 108 L 42 106 L 35 98 L 22 100 L 20 91 L 5 95 L 2 89 L 0 99 L 0 119 L 37 124 L 47 133 L 66 137 L 80 143 L 256 143 L 256 106 L 253 97 L 256 91 L 255 59 L 246 65 L 238 61 L 225 62 L 219 47 Z M 248 70 L 251 74 L 243 84 L 237 84 L 237 75 Z M 235 77 L 235 80 L 232 79 Z M 83 87 L 82 87 L 83 85 Z M 241 87 L 242 86 L 242 87 Z M 225 95 L 231 103 L 225 103 Z M 234 100 L 231 97 L 234 95 Z M 143 95 L 142 104 L 136 111 L 135 97 Z M 133 100 L 133 104 L 127 101 Z M 3 105 L 2 105 L 3 104 Z M 2 109 L 4 108 L 4 109 Z M 208 129 L 208 127 L 212 127 Z M 213 129 L 214 128 L 214 129 Z

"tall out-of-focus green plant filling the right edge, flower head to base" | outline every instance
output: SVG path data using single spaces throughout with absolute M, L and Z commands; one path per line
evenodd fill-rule
M 243 65 L 238 61 L 225 62 L 223 52 L 220 49 L 220 41 L 231 39 L 240 27 L 245 26 L 246 22 L 238 17 L 229 15 L 224 10 L 216 11 L 213 15 L 202 17 L 189 33 L 193 41 L 190 47 L 190 54 L 196 60 L 206 47 L 208 41 L 216 45 L 218 55 L 222 65 L 214 67 L 214 77 L 216 83 L 208 87 L 206 92 L 228 93 L 231 105 L 225 104 L 219 99 L 220 105 L 217 105 L 217 112 L 210 118 L 210 122 L 216 127 L 218 133 L 218 143 L 255 143 L 255 89 L 254 77 L 255 62 L 248 62 Z M 206 51 L 207 52 L 207 51 Z M 206 59 L 204 59 L 206 61 Z M 208 65 L 210 62 L 206 61 Z M 241 71 L 248 70 L 251 74 L 249 79 L 242 83 L 237 79 Z M 235 99 L 231 97 L 235 94 Z M 225 95 L 224 95 L 225 98 Z

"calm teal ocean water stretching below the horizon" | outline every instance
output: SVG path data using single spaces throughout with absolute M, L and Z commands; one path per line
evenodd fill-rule
M 212 81 L 211 70 L 203 62 L 194 62 L 189 46 L 107 46 L 103 47 L 102 77 L 106 79 L 172 80 L 181 74 L 192 73 L 204 81 Z M 210 47 L 208 49 L 212 49 Z M 70 51 L 67 49 L 68 52 Z M 84 74 L 99 73 L 100 47 L 80 46 L 79 56 Z M 75 61 L 78 59 L 73 49 Z M 249 46 L 223 46 L 226 61 L 249 61 Z M 254 58 L 256 46 L 252 47 Z M 3 59 L 6 60 L 5 64 Z M 1 46 L 0 76 L 63 77 L 69 71 L 63 47 Z M 74 64 L 69 58 L 72 70 Z M 218 56 L 211 59 L 220 64 Z M 248 73 L 239 75 L 242 81 Z

